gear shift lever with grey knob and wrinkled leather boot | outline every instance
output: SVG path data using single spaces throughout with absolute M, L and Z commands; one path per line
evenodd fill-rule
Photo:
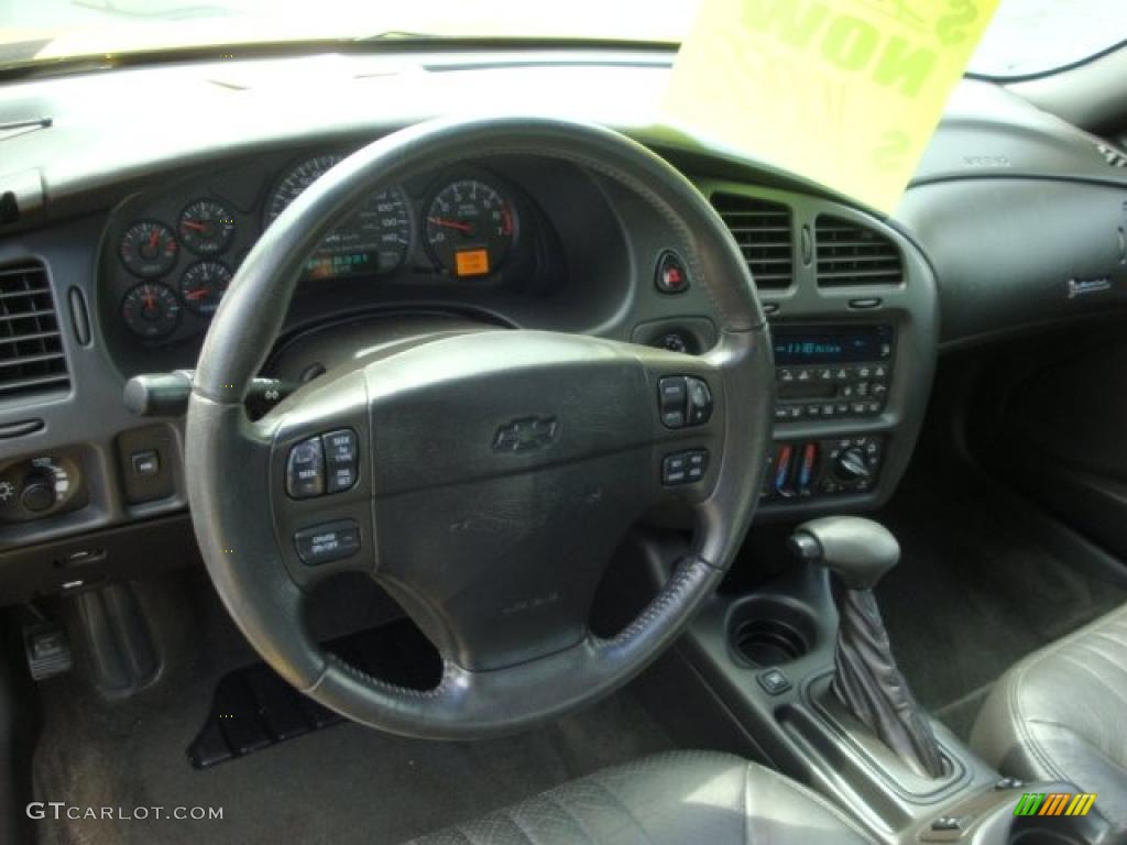
M 939 777 L 943 760 L 926 714 L 916 703 L 888 643 L 872 588 L 900 559 L 896 537 L 860 517 L 833 516 L 799 525 L 791 550 L 833 575 L 840 624 L 837 699 L 897 756 L 920 774 Z

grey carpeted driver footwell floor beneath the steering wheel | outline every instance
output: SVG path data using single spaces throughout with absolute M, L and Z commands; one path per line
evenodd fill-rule
M 423 741 L 340 723 L 201 771 L 186 749 L 216 685 L 255 662 L 214 598 L 203 604 L 206 620 L 158 623 L 157 639 L 175 643 L 149 690 L 110 701 L 81 674 L 41 685 L 35 800 L 66 804 L 33 822 L 41 845 L 399 843 L 671 747 L 627 691 L 507 739 Z M 222 818 L 159 818 L 195 808 Z

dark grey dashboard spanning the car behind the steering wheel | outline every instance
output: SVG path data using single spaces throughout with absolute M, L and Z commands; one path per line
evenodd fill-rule
M 656 130 L 668 54 L 341 61 L 344 81 L 339 63 L 293 59 L 0 90 L 0 602 L 192 557 L 183 419 L 133 416 L 126 381 L 193 367 L 241 261 L 313 180 L 389 132 L 464 112 L 482 86 L 536 114 L 550 90 L 553 114 L 631 134 L 727 224 L 777 365 L 762 385 L 777 404 L 760 521 L 886 501 L 943 349 L 1127 306 L 1127 170 L 994 86 L 957 91 L 902 207 L 881 217 L 800 174 Z M 162 94 L 152 113 L 122 105 L 149 88 Z M 17 214 L 5 216 L 5 197 Z M 435 162 L 334 224 L 263 375 L 300 384 L 357 348 L 452 329 L 700 354 L 716 323 L 699 286 L 677 282 L 685 249 L 653 208 L 579 164 Z M 170 539 L 183 551 L 162 551 Z

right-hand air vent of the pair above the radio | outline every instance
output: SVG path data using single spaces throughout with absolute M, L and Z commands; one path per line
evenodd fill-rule
M 819 287 L 896 285 L 904 278 L 899 249 L 867 226 L 823 215 L 815 238 Z

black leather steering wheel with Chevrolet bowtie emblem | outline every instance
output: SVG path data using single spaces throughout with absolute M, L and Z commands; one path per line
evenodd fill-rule
M 249 419 L 248 388 L 326 233 L 374 192 L 509 153 L 577 163 L 648 203 L 709 295 L 716 346 L 690 356 L 548 331 L 453 335 L 330 370 Z M 663 413 L 663 393 L 668 411 L 685 389 L 687 416 Z M 582 123 L 425 123 L 318 179 L 239 269 L 188 406 L 195 533 L 247 639 L 310 697 L 407 736 L 515 732 L 624 684 L 717 587 L 758 497 L 772 401 L 747 265 L 681 174 Z M 663 461 L 685 453 L 699 469 L 663 483 Z M 691 553 L 638 619 L 601 639 L 587 625 L 596 588 L 629 528 L 658 506 L 691 513 Z M 437 648 L 436 687 L 392 685 L 311 641 L 305 596 L 344 571 L 372 577 Z

